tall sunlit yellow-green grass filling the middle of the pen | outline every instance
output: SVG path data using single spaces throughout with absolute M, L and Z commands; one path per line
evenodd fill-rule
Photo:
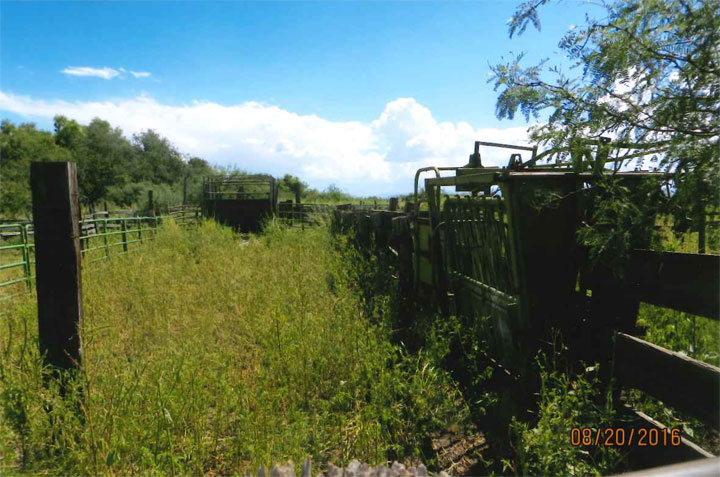
M 327 228 L 168 224 L 144 247 L 84 270 L 77 394 L 45 385 L 34 296 L 0 311 L 0 473 L 431 461 L 424 436 L 466 419 L 447 374 L 391 342 L 390 307 L 367 306 Z

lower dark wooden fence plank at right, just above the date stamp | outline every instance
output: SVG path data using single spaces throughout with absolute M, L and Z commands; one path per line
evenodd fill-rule
M 625 333 L 615 333 L 619 382 L 720 428 L 720 368 Z

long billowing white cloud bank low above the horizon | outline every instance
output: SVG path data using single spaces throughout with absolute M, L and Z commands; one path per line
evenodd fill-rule
M 527 139 L 525 127 L 438 122 L 413 98 L 389 102 L 370 123 L 329 121 L 257 102 L 171 106 L 147 96 L 67 102 L 0 92 L 0 111 L 45 119 L 62 114 L 81 123 L 99 117 L 128 136 L 154 129 L 180 151 L 215 164 L 273 175 L 291 173 L 312 187 L 335 183 L 355 194 L 409 192 L 418 168 L 463 165 L 476 140 L 526 144 Z M 509 151 L 481 152 L 486 166 L 505 165 L 509 158 Z

